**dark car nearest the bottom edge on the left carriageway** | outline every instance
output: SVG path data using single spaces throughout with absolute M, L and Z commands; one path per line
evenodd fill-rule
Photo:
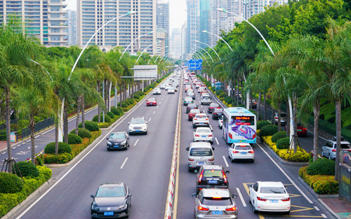
M 102 183 L 91 197 L 91 218 L 128 218 L 131 191 L 125 183 Z

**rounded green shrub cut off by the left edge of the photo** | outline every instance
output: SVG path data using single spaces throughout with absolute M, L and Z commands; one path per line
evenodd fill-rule
M 15 174 L 0 173 L 0 193 L 20 192 L 23 188 L 23 181 Z

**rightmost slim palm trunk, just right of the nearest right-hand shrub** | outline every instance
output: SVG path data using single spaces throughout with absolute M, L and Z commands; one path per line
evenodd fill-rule
M 336 122 L 336 157 L 335 157 L 335 181 L 339 181 L 340 164 L 340 141 L 341 141 L 341 101 L 335 103 L 335 122 Z

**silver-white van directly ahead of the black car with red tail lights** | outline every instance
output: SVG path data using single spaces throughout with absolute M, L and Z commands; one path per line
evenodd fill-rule
M 215 164 L 213 148 L 209 142 L 192 142 L 187 147 L 189 154 L 187 155 L 188 171 L 200 169 L 202 165 Z

